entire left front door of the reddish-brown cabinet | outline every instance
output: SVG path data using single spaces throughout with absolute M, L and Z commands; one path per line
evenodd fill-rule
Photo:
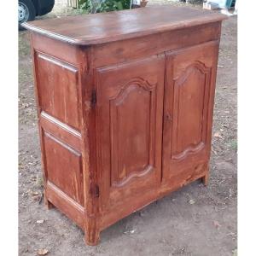
M 161 55 L 96 69 L 100 201 L 113 215 L 143 205 L 160 184 L 164 63 Z

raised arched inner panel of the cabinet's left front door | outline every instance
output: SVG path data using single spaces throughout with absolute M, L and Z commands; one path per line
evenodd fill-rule
M 113 187 L 121 187 L 154 168 L 154 103 L 155 85 L 143 79 L 131 80 L 110 100 Z

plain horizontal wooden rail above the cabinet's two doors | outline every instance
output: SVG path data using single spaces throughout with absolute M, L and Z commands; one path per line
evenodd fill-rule
M 93 63 L 96 67 L 102 67 L 218 40 L 220 29 L 221 23 L 218 21 L 193 26 L 193 29 L 188 27 L 130 40 L 98 44 L 93 47 Z

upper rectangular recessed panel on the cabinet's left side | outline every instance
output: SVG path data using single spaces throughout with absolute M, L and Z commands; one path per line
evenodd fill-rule
M 77 68 L 40 52 L 36 67 L 40 110 L 79 130 Z

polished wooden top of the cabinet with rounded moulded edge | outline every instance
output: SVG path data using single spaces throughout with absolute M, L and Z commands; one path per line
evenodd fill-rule
M 150 6 L 95 15 L 77 15 L 23 24 L 32 32 L 69 44 L 91 45 L 137 38 L 226 19 L 204 9 Z

